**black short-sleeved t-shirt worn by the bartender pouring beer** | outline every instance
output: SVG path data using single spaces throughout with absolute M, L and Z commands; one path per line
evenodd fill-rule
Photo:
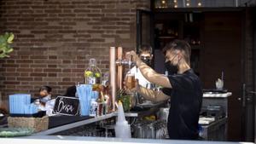
M 198 120 L 201 111 L 201 81 L 192 69 L 183 74 L 168 76 L 172 89 L 162 91 L 171 96 L 168 133 L 171 139 L 198 138 Z

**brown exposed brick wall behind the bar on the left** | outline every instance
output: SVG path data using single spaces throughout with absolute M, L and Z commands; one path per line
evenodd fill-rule
M 90 58 L 108 71 L 108 47 L 136 46 L 136 9 L 149 0 L 1 0 L 0 33 L 15 33 L 15 51 L 1 60 L 0 91 L 55 95 L 83 82 Z

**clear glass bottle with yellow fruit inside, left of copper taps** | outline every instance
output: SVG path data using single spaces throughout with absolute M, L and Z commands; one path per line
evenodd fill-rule
M 84 84 L 101 84 L 102 72 L 96 66 L 96 59 L 90 59 L 89 65 L 84 71 Z

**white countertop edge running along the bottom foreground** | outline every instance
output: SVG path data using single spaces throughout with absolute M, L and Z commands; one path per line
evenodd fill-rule
M 253 144 L 250 142 L 224 142 L 224 141 L 174 141 L 174 140 L 154 140 L 154 139 L 119 139 L 102 137 L 82 137 L 82 136 L 26 136 L 18 138 L 1 138 L 1 144 Z

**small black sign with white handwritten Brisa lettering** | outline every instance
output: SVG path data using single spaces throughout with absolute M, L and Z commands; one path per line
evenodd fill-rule
M 55 100 L 53 113 L 75 116 L 79 114 L 79 99 L 75 97 L 58 96 Z

